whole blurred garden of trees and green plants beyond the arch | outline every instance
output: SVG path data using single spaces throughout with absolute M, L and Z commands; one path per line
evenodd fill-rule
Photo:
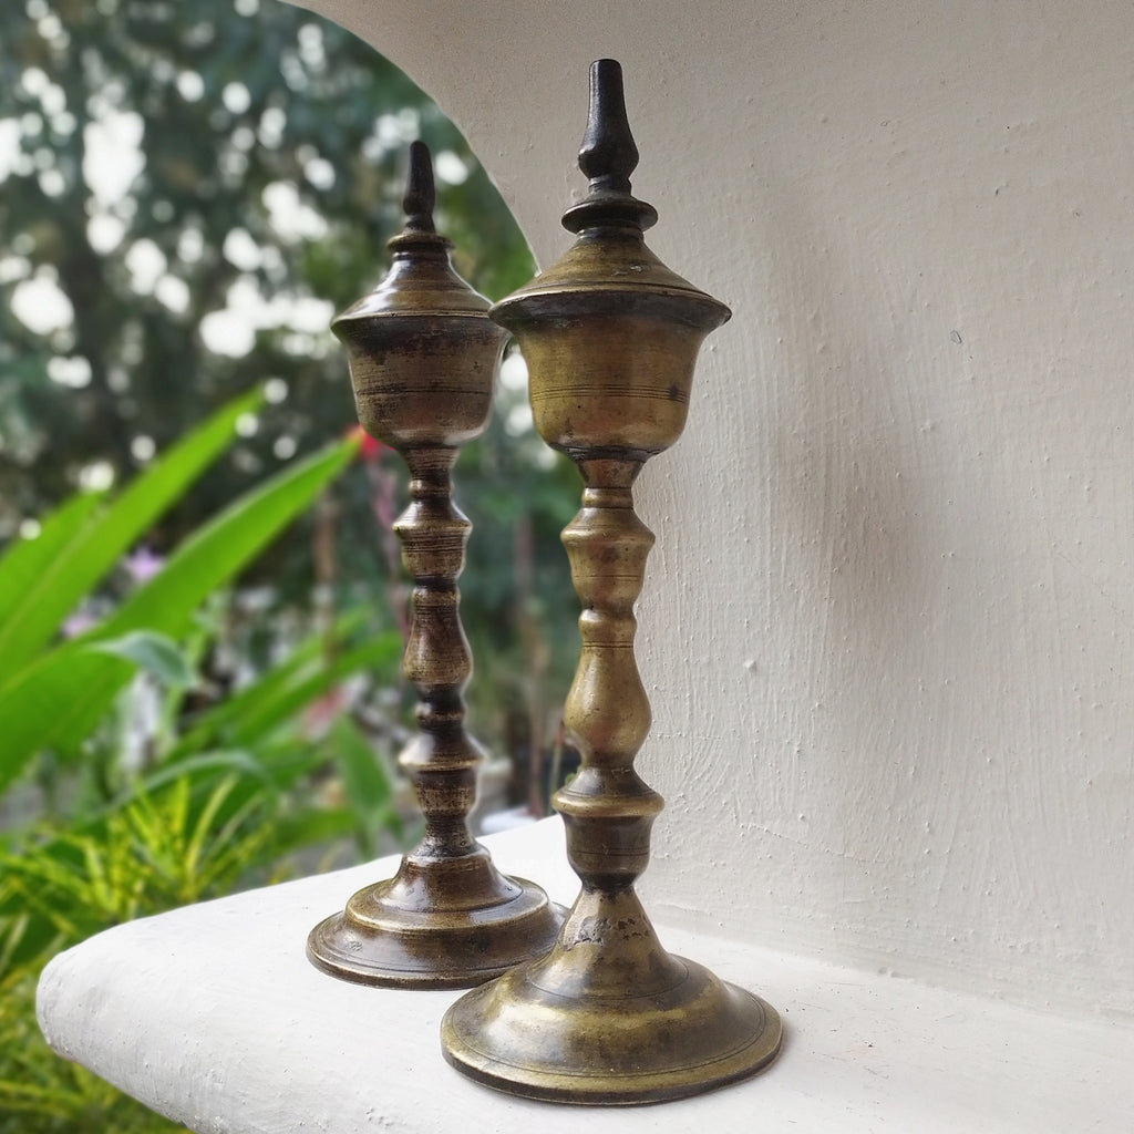
M 11 0 L 0 37 L 0 1134 L 177 1127 L 53 1056 L 61 948 L 393 850 L 407 591 L 396 455 L 332 315 L 386 271 L 403 162 L 499 298 L 526 244 L 455 127 L 277 0 Z M 506 359 L 456 471 L 471 730 L 494 802 L 561 780 L 574 471 Z M 302 942 L 296 945 L 302 947 Z

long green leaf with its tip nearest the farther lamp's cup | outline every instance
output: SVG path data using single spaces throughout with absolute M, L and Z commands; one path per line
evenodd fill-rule
M 181 544 L 166 568 L 104 623 L 34 662 L 0 691 L 0 789 L 43 748 L 77 747 L 134 672 L 130 663 L 87 646 L 135 629 L 183 633 L 205 595 L 303 511 L 354 452 L 354 442 L 337 442 L 240 497 Z

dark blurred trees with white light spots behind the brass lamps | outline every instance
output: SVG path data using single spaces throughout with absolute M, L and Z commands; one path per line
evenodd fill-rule
M 268 404 L 149 531 L 154 553 L 348 430 L 346 363 L 327 328 L 384 273 L 414 137 L 434 153 L 438 227 L 458 270 L 493 298 L 525 282 L 526 244 L 459 132 L 340 27 L 274 0 L 9 5 L 0 542 L 77 484 L 144 467 L 253 382 Z M 456 469 L 475 527 L 462 579 L 472 719 L 519 755 L 553 734 L 577 645 L 558 540 L 577 480 L 550 459 L 523 401 L 501 390 Z M 244 582 L 270 586 L 278 606 L 308 606 L 313 578 L 340 608 L 401 603 L 397 548 L 375 511 L 388 522 L 400 510 L 404 473 L 390 454 L 383 464 L 344 476 Z

